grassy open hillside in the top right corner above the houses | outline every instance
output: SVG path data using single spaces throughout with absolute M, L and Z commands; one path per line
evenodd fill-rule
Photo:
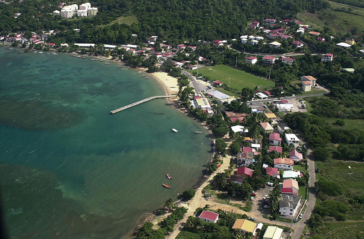
M 330 1 L 329 1 L 330 2 Z M 364 31 L 364 9 L 350 5 L 330 2 L 330 10 L 316 11 L 315 13 L 304 12 L 298 15 L 298 19 L 305 24 L 313 25 L 313 28 L 323 29 L 325 26 L 333 28 L 336 32 L 350 32 L 356 27 L 358 35 Z M 344 8 L 345 11 L 339 11 Z M 352 11 L 348 12 L 347 9 Z

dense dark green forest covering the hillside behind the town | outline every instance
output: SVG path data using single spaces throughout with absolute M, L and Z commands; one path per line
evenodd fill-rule
M 74 41 L 122 44 L 132 41 L 131 32 L 138 34 L 136 41 L 143 41 L 150 35 L 171 43 L 183 40 L 231 39 L 240 36 L 250 20 L 294 18 L 298 12 L 316 11 L 329 6 L 323 0 L 263 1 L 263 0 L 136 0 L 136 1 L 90 1 L 98 7 L 95 17 L 61 19 L 52 16 L 58 9 L 55 0 L 27 0 L 0 5 L 0 32 L 40 31 L 58 29 L 81 29 Z M 17 19 L 14 13 L 21 13 Z M 138 23 L 131 26 L 104 25 L 123 15 L 136 15 Z M 71 34 L 71 33 L 69 33 Z

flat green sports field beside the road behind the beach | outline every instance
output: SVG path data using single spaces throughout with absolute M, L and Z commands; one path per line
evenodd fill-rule
M 194 70 L 193 72 L 197 72 L 197 70 Z M 262 79 L 258 76 L 240 71 L 227 65 L 215 65 L 210 68 L 200 68 L 198 69 L 198 73 L 201 73 L 203 76 L 210 77 L 211 80 L 219 80 L 225 84 L 229 84 L 230 76 L 230 87 L 239 91 L 245 87 L 254 89 L 260 85 L 261 87 L 258 88 L 260 90 L 274 87 L 273 81 Z

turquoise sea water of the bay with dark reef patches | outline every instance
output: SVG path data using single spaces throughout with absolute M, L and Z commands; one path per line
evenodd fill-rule
M 126 238 L 201 178 L 211 140 L 165 99 L 109 113 L 164 95 L 157 81 L 117 63 L 16 53 L 0 49 L 0 181 L 12 238 Z

